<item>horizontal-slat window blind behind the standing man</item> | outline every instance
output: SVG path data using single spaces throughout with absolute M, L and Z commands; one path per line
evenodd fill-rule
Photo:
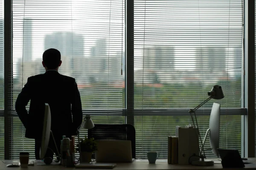
M 61 52 L 59 72 L 76 79 L 84 114 L 96 123 L 124 123 L 124 1 L 12 0 L 12 13 L 11 159 L 20 151 L 34 156 L 14 104 L 27 78 L 44 73 L 48 48 Z

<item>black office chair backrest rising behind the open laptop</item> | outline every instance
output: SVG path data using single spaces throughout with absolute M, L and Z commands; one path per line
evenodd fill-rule
M 88 129 L 88 138 L 130 140 L 132 158 L 136 157 L 135 128 L 130 124 L 94 124 Z

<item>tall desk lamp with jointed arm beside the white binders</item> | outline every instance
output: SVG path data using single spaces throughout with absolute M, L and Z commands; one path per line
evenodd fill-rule
M 195 107 L 194 109 L 190 109 L 189 113 L 190 113 L 190 116 L 192 118 L 192 122 L 193 122 L 193 125 L 195 127 L 195 132 L 196 132 L 196 127 L 198 128 L 198 131 L 199 131 L 199 127 L 198 127 L 198 122 L 197 122 L 197 119 L 196 119 L 196 115 L 195 115 L 195 111 L 200 108 L 202 105 L 204 105 L 206 102 L 208 102 L 210 99 L 223 99 L 224 98 L 224 94 L 223 94 L 223 91 L 222 91 L 222 88 L 221 86 L 219 85 L 215 85 L 213 86 L 212 90 L 211 91 L 208 91 L 208 96 L 209 98 L 204 100 L 204 102 L 202 102 L 201 104 L 199 104 L 197 107 Z M 192 113 L 194 113 L 194 116 L 195 116 L 195 121 L 194 121 L 194 118 L 193 118 L 193 115 Z M 196 122 L 196 126 L 195 126 L 195 122 Z M 197 132 L 196 132 L 196 135 L 197 135 Z M 202 139 L 201 139 L 201 135 L 200 135 L 200 132 L 198 133 L 199 135 L 199 139 L 200 139 L 200 142 L 201 142 L 201 150 L 199 152 L 199 156 L 201 158 L 201 160 L 199 161 L 193 161 L 193 165 L 203 165 L 203 166 L 207 166 L 207 165 L 213 165 L 214 162 L 213 161 L 206 161 L 204 160 L 205 157 L 205 153 L 204 153 L 204 144 L 202 142 Z M 198 147 L 200 148 L 199 146 L 199 143 L 198 143 Z

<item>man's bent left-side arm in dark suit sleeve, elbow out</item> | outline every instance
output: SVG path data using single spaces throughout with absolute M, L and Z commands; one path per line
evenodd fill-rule
M 15 102 L 15 110 L 17 112 L 17 115 L 20 118 L 20 121 L 23 123 L 24 127 L 27 128 L 28 123 L 28 112 L 26 110 L 26 105 L 28 105 L 28 102 L 31 98 L 30 91 L 29 91 L 29 78 L 22 88 L 22 91 L 18 95 L 16 102 Z

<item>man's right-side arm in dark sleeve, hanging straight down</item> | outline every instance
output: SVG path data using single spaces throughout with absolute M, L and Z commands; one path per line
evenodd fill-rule
M 81 97 L 76 84 L 76 80 L 74 80 L 73 94 L 71 95 L 72 95 L 71 105 L 72 105 L 73 125 L 75 128 L 74 130 L 76 130 L 81 125 L 83 120 Z

